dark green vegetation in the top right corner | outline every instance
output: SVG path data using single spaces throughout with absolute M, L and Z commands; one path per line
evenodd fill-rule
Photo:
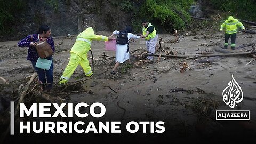
M 235 18 L 256 21 L 256 0 L 210 0 L 214 9 L 226 12 L 228 17 L 233 15 Z

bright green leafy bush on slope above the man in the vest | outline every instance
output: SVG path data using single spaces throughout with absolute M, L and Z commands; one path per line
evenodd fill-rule
M 194 0 L 146 0 L 140 8 L 141 18 L 158 21 L 165 30 L 185 29 L 191 22 L 189 8 Z

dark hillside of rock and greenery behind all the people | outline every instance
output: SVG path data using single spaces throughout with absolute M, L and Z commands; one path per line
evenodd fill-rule
M 190 15 L 210 19 L 220 15 L 221 20 L 234 15 L 255 21 L 255 6 L 255 0 L 0 0 L 0 41 L 36 33 L 43 23 L 51 26 L 53 37 L 76 35 L 88 26 L 95 31 L 113 31 L 131 25 L 134 33 L 140 33 L 142 19 L 153 23 L 158 33 L 193 30 L 195 25 L 211 28 L 194 23 Z

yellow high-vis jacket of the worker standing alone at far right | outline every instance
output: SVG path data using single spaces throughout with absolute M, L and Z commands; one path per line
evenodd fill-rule
M 220 30 L 223 30 L 223 28 L 226 27 L 227 34 L 234 34 L 237 33 L 237 26 L 241 27 L 241 29 L 245 29 L 240 21 L 229 16 L 228 19 L 220 26 Z

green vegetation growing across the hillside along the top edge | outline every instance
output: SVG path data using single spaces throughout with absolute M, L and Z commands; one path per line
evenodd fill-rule
M 185 30 L 186 28 L 189 28 L 189 26 L 192 26 L 193 29 L 197 27 L 200 29 L 200 26 L 210 27 L 210 29 L 214 31 L 215 26 L 218 26 L 219 23 L 212 23 L 210 21 L 193 23 L 194 20 L 190 18 L 190 6 L 196 4 L 197 1 L 199 0 L 96 0 L 91 2 L 93 3 L 91 4 L 93 7 L 91 7 L 91 9 L 86 9 L 86 11 L 98 15 L 107 14 L 106 20 L 114 21 L 111 19 L 111 15 L 121 10 L 123 11 L 122 13 L 125 14 L 125 19 L 130 16 L 130 19 L 126 19 L 126 22 L 131 23 L 133 33 L 141 33 L 142 19 L 146 19 L 152 23 L 159 33 L 170 32 L 173 29 Z M 32 18 L 32 21 L 36 25 L 44 22 L 39 9 L 34 11 L 34 15 L 25 13 L 29 2 L 31 1 L 0 0 L 0 38 L 3 38 L 3 36 L 12 37 L 17 34 L 17 27 L 22 27 L 23 23 L 26 22 L 27 17 Z M 40 2 L 50 6 L 54 12 L 59 11 L 61 8 L 60 4 L 64 3 L 68 8 L 73 3 L 73 1 L 70 0 L 46 0 Z M 77 1 L 77 4 L 81 6 L 84 6 L 86 3 L 87 1 Z M 233 15 L 238 19 L 256 22 L 256 0 L 205 0 L 203 3 L 206 4 L 205 7 L 202 7 L 203 10 L 206 10 L 205 8 L 207 6 L 213 6 L 211 7 L 211 10 L 221 10 L 222 12 L 218 12 L 218 14 L 221 15 L 223 20 L 226 20 L 229 15 Z M 110 12 L 102 11 L 101 7 L 106 6 L 107 4 L 111 5 L 110 8 L 112 10 L 110 10 Z M 116 22 L 109 25 L 117 27 L 118 23 Z M 219 26 L 217 28 L 219 28 Z

